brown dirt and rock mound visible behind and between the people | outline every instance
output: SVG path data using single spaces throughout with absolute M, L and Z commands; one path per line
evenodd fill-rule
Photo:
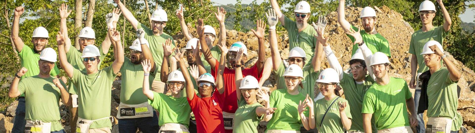
M 409 39 L 410 35 L 414 32 L 414 29 L 410 27 L 409 23 L 402 19 L 402 16 L 386 6 L 383 7 L 373 7 L 377 11 L 378 22 L 376 23 L 377 31 L 383 35 L 389 42 L 391 48 L 391 70 L 390 75 L 393 77 L 403 78 L 407 82 L 410 80 L 410 54 L 409 50 Z M 346 9 L 346 19 L 353 25 L 361 27 L 361 19 L 359 19 L 359 14 L 361 8 L 352 8 L 347 7 Z M 336 12 L 332 12 L 326 15 L 328 19 L 328 25 L 325 29 L 325 35 L 330 38 L 330 44 L 332 46 L 333 52 L 339 58 L 340 63 L 343 65 L 343 69 L 349 68 L 349 64 L 346 62 L 351 58 L 351 48 L 352 43 L 348 37 L 344 34 L 344 31 L 337 22 Z M 189 26 L 191 27 L 191 26 Z M 218 30 L 218 28 L 217 28 Z M 192 34 L 196 35 L 196 30 L 190 28 Z M 219 33 L 219 32 L 217 32 Z M 254 36 L 252 32 L 237 32 L 235 30 L 227 30 L 227 46 L 230 46 L 236 41 L 244 42 L 248 47 L 248 62 L 246 66 L 251 66 L 256 62 L 257 59 L 257 37 Z M 282 58 L 288 56 L 288 35 L 283 32 L 280 33 L 278 40 L 281 42 L 279 44 L 279 50 L 281 51 Z M 177 42 L 176 44 L 183 48 L 186 45 L 186 40 L 183 38 L 182 34 L 173 35 L 173 38 Z M 217 41 L 215 41 L 216 43 Z M 270 57 L 270 48 L 268 39 L 266 38 L 267 47 L 266 53 L 267 57 Z M 464 126 L 469 130 L 469 133 L 475 133 L 475 73 L 466 66 L 449 55 L 451 59 L 457 66 L 457 68 L 462 72 L 462 79 L 459 80 L 458 85 L 461 87 L 461 95 L 458 99 L 458 112 L 463 116 Z M 328 62 L 324 61 L 323 68 L 328 67 Z M 276 81 L 274 80 L 273 73 L 268 80 L 265 81 L 264 87 L 269 88 L 271 91 L 274 90 Z M 318 89 L 315 90 L 316 92 Z M 414 92 L 414 89 L 411 89 Z M 117 114 L 117 106 L 119 105 L 119 95 L 120 95 L 120 76 L 117 80 L 114 81 L 112 88 L 112 98 L 111 98 L 111 115 L 115 116 Z M 18 103 L 15 101 L 12 103 L 5 112 L 0 114 L 0 132 L 1 133 L 10 133 L 12 128 L 12 122 L 15 116 L 15 109 Z M 62 116 L 62 123 L 66 130 L 69 129 L 69 113 L 68 109 L 65 106 L 61 106 L 60 113 Z M 427 117 L 424 116 L 425 121 L 427 122 Z M 115 122 L 115 124 L 117 124 Z M 113 132 L 117 133 L 117 126 L 113 126 Z M 266 129 L 266 123 L 261 122 L 258 126 L 260 133 Z

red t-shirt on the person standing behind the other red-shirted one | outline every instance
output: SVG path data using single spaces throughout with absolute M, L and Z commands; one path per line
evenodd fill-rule
M 216 80 L 216 71 L 219 69 L 219 61 L 216 60 L 216 66 L 214 69 L 211 69 L 211 75 Z M 237 96 L 236 96 L 236 80 L 235 80 L 236 71 L 225 68 L 223 73 L 224 79 L 224 100 L 226 101 L 223 106 L 223 111 L 228 113 L 235 113 L 237 110 Z M 245 68 L 242 70 L 243 77 L 247 75 L 254 76 L 254 78 L 259 81 L 262 77 L 262 71 L 260 73 L 257 72 L 257 66 L 254 64 L 251 68 Z

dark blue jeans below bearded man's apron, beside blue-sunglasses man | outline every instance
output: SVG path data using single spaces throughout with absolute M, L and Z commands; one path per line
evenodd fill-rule
M 158 133 L 160 126 L 158 126 L 158 117 L 155 111 L 153 111 L 153 117 L 119 119 L 120 133 L 135 133 L 137 128 L 142 133 Z

